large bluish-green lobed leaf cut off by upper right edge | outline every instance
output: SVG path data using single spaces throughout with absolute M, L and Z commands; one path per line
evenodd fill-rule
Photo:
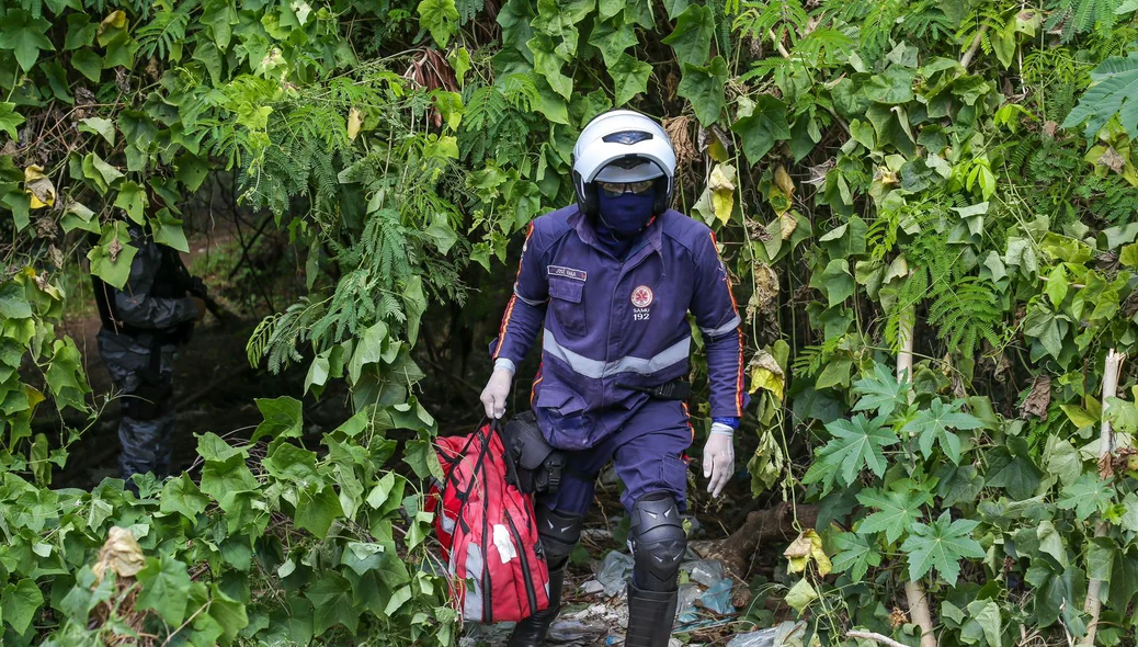
M 1063 128 L 1086 123 L 1083 136 L 1094 140 L 1106 122 L 1119 115 L 1131 141 L 1138 140 L 1138 51 L 1127 58 L 1107 58 L 1090 73 L 1090 79 L 1092 85 L 1063 120 Z

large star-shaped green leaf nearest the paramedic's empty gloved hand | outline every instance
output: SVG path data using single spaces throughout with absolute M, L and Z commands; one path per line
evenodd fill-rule
M 836 480 L 841 485 L 851 485 L 864 468 L 877 476 L 884 474 L 885 454 L 882 448 L 899 442 L 893 432 L 883 426 L 884 420 L 884 417 L 869 420 L 857 415 L 850 420 L 839 419 L 826 425 L 826 431 L 834 437 L 815 454 L 814 465 L 803 481 L 831 484 Z

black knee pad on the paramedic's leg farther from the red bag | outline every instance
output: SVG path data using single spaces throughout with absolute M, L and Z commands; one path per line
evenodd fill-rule
M 671 494 L 645 494 L 633 503 L 632 544 L 633 583 L 645 591 L 675 591 L 687 533 Z

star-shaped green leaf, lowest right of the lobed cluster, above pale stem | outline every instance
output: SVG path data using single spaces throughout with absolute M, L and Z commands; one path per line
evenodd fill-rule
M 980 522 L 956 519 L 948 510 L 932 524 L 913 524 L 901 550 L 908 554 L 909 580 L 916 582 L 935 568 L 950 587 L 960 574 L 960 559 L 980 559 L 984 556 L 980 542 L 971 533 Z

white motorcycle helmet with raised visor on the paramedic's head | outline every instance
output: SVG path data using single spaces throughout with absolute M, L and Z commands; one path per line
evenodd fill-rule
M 572 149 L 572 179 L 577 203 L 587 215 L 596 215 L 594 182 L 658 180 L 653 211 L 671 206 L 675 190 L 676 150 L 671 138 L 651 117 L 635 110 L 602 113 L 580 132 Z

